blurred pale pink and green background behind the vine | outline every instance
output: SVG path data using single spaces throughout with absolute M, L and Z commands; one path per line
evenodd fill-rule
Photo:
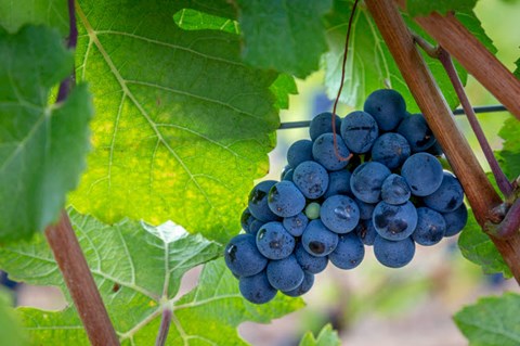
M 520 1 L 480 0 L 476 12 L 498 49 L 498 59 L 512 71 L 520 57 Z M 298 80 L 299 94 L 292 95 L 289 110 L 282 112 L 283 123 L 309 120 L 320 112 L 332 111 L 333 101 L 325 95 L 322 81 L 320 72 Z M 471 77 L 466 90 L 473 105 L 497 104 Z M 340 105 L 338 114 L 344 116 L 351 111 Z M 506 112 L 478 116 L 493 149 L 500 148 L 497 132 L 509 116 Z M 464 116 L 457 116 L 456 121 L 489 170 L 468 121 Z M 270 154 L 271 169 L 262 179 L 280 179 L 288 146 L 303 138 L 309 138 L 307 128 L 278 130 L 276 149 Z M 342 345 L 463 346 L 468 343 L 452 320 L 454 312 L 484 295 L 520 292 L 514 280 L 504 280 L 500 274 L 484 275 L 479 267 L 464 259 L 456 236 L 432 247 L 418 246 L 414 260 L 396 270 L 380 266 L 372 248 L 366 249 L 358 268 L 342 271 L 328 266 L 317 274 L 314 287 L 303 296 L 306 308 L 270 324 L 244 323 L 240 335 L 256 346 L 291 346 L 298 345 L 307 331 L 317 333 L 332 323 Z M 185 275 L 181 294 L 196 284 L 198 272 L 199 268 Z M 6 282 L 3 277 L 0 281 Z M 43 309 L 65 306 L 55 287 L 11 286 L 17 305 Z

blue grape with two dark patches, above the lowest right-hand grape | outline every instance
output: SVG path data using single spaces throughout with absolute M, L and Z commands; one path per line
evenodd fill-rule
M 417 209 L 410 201 L 401 205 L 379 202 L 374 209 L 373 222 L 380 236 L 400 241 L 414 232 L 417 226 Z

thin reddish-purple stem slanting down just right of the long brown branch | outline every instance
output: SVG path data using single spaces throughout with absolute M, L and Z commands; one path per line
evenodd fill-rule
M 493 155 L 493 150 L 491 149 L 491 145 L 487 142 L 487 139 L 485 138 L 484 131 L 482 130 L 482 127 L 480 126 L 479 120 L 477 119 L 477 115 L 474 114 L 473 107 L 471 106 L 468 95 L 464 90 L 463 82 L 458 77 L 458 73 L 455 68 L 455 65 L 453 64 L 453 60 L 450 53 L 445 49 L 443 49 L 442 46 L 433 47 L 432 44 L 427 42 L 422 37 L 415 34 L 413 36 L 414 36 L 414 41 L 425 52 L 427 52 L 428 55 L 430 55 L 431 57 L 438 59 L 441 62 L 444 69 L 446 71 L 447 77 L 450 78 L 450 81 L 452 82 L 453 88 L 457 93 L 458 100 L 463 105 L 463 110 L 466 113 L 469 125 L 471 126 L 471 129 L 473 130 L 474 136 L 479 141 L 480 148 L 484 153 L 485 159 L 490 164 L 491 171 L 495 177 L 498 189 L 500 189 L 502 193 L 507 198 L 512 193 L 512 185 L 509 182 L 509 180 L 507 180 L 507 177 L 502 170 L 500 166 L 498 165 L 498 162 L 496 161 L 495 155 Z

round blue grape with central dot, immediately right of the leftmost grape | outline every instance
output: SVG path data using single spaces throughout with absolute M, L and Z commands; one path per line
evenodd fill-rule
M 268 222 L 257 233 L 258 251 L 269 259 L 282 259 L 295 249 L 295 238 L 280 222 Z

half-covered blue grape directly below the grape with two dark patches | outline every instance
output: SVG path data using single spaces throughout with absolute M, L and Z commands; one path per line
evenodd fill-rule
M 414 258 L 415 243 L 411 238 L 392 242 L 377 235 L 374 241 L 374 255 L 386 267 L 401 268 Z

